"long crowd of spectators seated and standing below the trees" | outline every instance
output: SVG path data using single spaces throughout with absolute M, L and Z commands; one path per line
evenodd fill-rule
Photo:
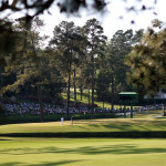
M 19 104 L 3 104 L 4 106 L 4 114 L 6 115 L 25 115 L 25 114 L 32 114 L 32 115 L 40 115 L 40 105 L 39 103 L 19 103 Z M 148 112 L 154 110 L 164 110 L 164 104 L 156 104 L 156 105 L 145 105 L 145 106 L 136 106 L 134 107 L 134 112 Z M 87 106 L 82 107 L 70 107 L 69 113 L 70 114 L 82 114 L 82 113 L 90 113 L 91 110 Z M 126 108 L 126 112 L 131 112 L 129 107 Z M 43 104 L 43 113 L 45 115 L 56 115 L 56 114 L 65 114 L 66 113 L 66 106 L 59 106 L 55 104 Z M 124 107 L 111 110 L 111 108 L 100 108 L 95 107 L 94 113 L 124 113 Z

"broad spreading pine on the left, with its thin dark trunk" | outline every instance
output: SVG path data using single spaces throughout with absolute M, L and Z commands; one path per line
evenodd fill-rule
M 27 24 L 24 18 L 14 22 L 14 31 L 18 32 L 18 42 L 14 50 L 6 55 L 6 74 L 14 74 L 15 80 L 1 89 L 1 94 L 8 91 L 21 92 L 23 96 L 38 94 L 41 121 L 43 121 L 43 93 L 51 93 L 46 86 L 51 86 L 54 96 L 60 96 L 61 87 L 54 85 L 61 83 L 62 79 L 49 59 L 50 52 L 43 50 L 39 29 L 43 27 L 43 21 L 34 18 Z M 14 60 L 13 60 L 14 59 Z M 54 84 L 54 85 L 53 85 Z M 33 91 L 28 91 L 33 90 Z

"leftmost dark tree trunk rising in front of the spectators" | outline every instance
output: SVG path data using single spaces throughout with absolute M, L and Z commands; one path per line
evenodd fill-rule
M 39 105 L 40 105 L 40 120 L 41 122 L 43 122 L 44 114 L 43 114 L 42 90 L 40 84 L 38 84 L 38 97 L 39 97 Z

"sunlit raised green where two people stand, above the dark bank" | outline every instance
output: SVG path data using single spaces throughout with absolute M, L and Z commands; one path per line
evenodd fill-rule
M 56 133 L 56 132 L 128 132 L 128 131 L 166 131 L 166 118 L 156 117 L 162 111 L 149 112 L 148 114 L 136 114 L 137 118 L 103 118 L 70 121 L 50 123 L 27 123 L 1 125 L 0 134 L 4 133 Z

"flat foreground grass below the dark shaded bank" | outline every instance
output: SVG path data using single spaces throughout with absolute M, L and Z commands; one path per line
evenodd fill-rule
M 0 166 L 164 166 L 166 139 L 0 138 Z

